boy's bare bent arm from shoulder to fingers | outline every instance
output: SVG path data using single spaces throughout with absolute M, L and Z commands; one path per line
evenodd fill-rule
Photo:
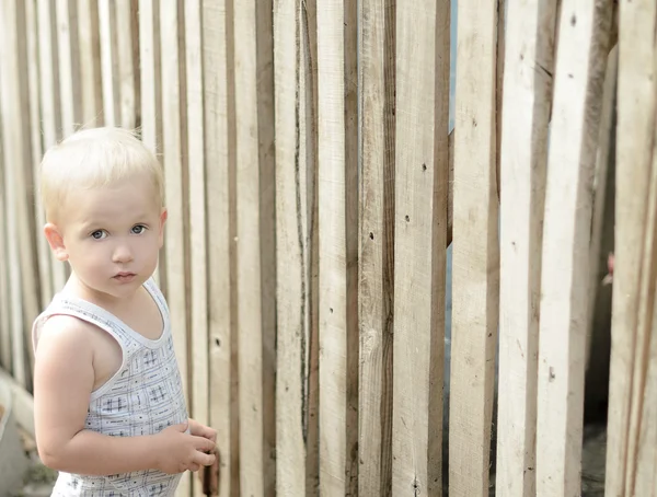
M 53 322 L 50 324 L 50 322 Z M 44 464 L 57 471 L 110 475 L 147 469 L 168 473 L 214 463 L 215 444 L 185 427 L 155 436 L 110 437 L 84 429 L 94 383 L 93 346 L 84 324 L 49 320 L 36 350 L 35 429 Z

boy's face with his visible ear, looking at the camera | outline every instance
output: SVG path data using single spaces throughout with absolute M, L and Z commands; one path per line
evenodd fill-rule
M 72 192 L 46 235 L 91 291 L 130 296 L 155 270 L 166 211 L 146 176 L 112 188 Z

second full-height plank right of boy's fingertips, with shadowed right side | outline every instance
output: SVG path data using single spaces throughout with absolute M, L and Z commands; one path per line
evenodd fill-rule
M 240 490 L 276 492 L 273 3 L 234 4 Z

